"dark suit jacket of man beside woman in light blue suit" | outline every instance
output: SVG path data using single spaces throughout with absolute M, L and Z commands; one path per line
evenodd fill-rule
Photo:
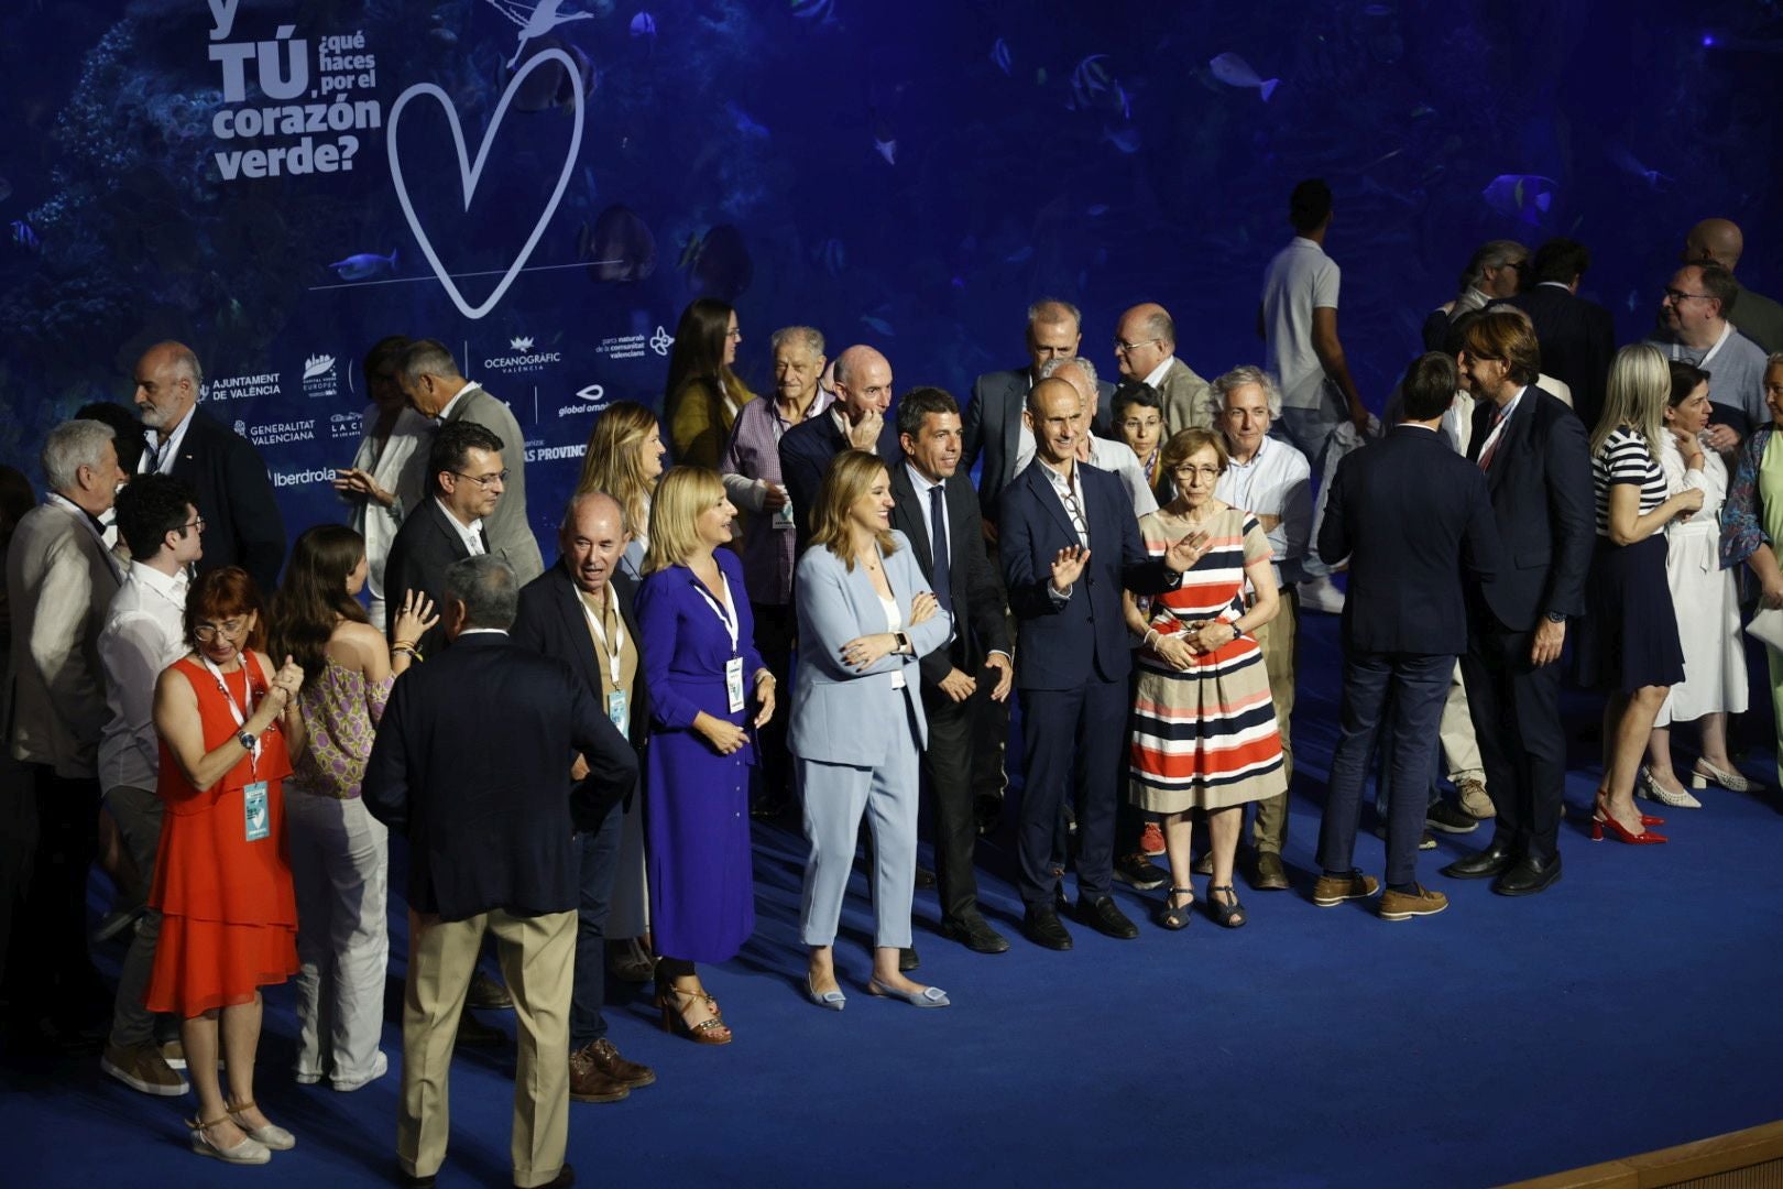
M 954 608 L 954 638 L 922 658 L 922 683 L 938 686 L 954 668 L 979 677 L 990 652 L 1009 652 L 1002 583 L 984 554 L 979 497 L 965 467 L 941 483 L 947 503 L 947 594 Z M 904 533 L 924 578 L 938 586 L 934 551 L 929 544 L 929 506 L 909 480 L 909 463 L 892 465 L 892 528 Z

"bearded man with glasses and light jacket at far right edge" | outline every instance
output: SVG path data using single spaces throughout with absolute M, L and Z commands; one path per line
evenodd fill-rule
M 1719 264 L 1685 264 L 1672 273 L 1660 299 L 1660 326 L 1647 339 L 1665 358 L 1708 373 L 1708 444 L 1719 451 L 1733 449 L 1771 421 L 1763 348 L 1728 321 L 1738 292 L 1733 273 Z

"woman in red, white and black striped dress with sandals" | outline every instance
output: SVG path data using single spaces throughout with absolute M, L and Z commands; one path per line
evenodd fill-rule
M 1141 638 L 1129 795 L 1164 825 L 1171 888 L 1157 923 L 1189 923 L 1191 815 L 1202 809 L 1214 859 L 1209 911 L 1236 929 L 1245 923 L 1232 890 L 1243 806 L 1287 788 L 1269 677 L 1252 635 L 1275 619 L 1275 570 L 1257 517 L 1214 499 L 1227 467 L 1218 433 L 1182 430 L 1164 446 L 1159 467 L 1175 481 L 1177 497 L 1139 519 L 1146 551 L 1159 556 L 1189 533 L 1207 533 L 1209 545 L 1182 585 L 1148 608 L 1127 595 L 1127 626 Z

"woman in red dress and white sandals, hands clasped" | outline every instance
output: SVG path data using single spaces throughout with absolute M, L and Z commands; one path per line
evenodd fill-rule
M 162 925 L 146 1002 L 182 1020 L 198 1093 L 193 1152 L 264 1164 L 271 1148 L 296 1143 L 253 1102 L 253 1054 L 260 988 L 298 970 L 280 781 L 303 750 L 303 670 L 285 658 L 275 674 L 255 649 L 266 636 L 260 592 L 234 565 L 193 581 L 185 635 L 193 651 L 155 683 L 166 816 L 150 891 Z M 226 1100 L 218 1086 L 219 1030 Z

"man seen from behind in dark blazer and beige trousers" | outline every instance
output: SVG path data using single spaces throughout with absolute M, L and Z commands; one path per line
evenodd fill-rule
M 572 831 L 637 784 L 638 761 L 581 677 L 508 638 L 514 567 L 489 554 L 455 562 L 442 595 L 453 647 L 390 690 L 364 783 L 366 809 L 408 838 L 396 1150 L 414 1178 L 446 1159 L 446 1070 L 489 931 L 522 1032 L 514 1175 L 546 1184 L 567 1168 Z M 571 788 L 578 754 L 588 779 Z

